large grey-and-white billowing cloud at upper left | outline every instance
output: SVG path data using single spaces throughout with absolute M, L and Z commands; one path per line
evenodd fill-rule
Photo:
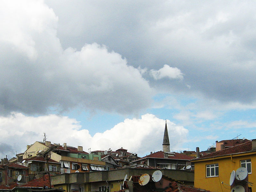
M 120 54 L 96 43 L 63 50 L 58 17 L 43 1 L 6 1 L 0 10 L 2 114 L 76 107 L 130 114 L 150 105 L 153 90 Z

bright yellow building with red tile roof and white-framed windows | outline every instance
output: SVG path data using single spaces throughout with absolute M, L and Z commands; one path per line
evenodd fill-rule
M 195 187 L 230 192 L 230 174 L 239 167 L 248 171 L 248 181 L 256 190 L 256 139 L 191 160 L 195 164 Z

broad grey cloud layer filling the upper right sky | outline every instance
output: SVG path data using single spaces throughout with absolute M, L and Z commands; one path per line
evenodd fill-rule
M 255 2 L 46 3 L 59 17 L 64 47 L 105 44 L 135 68 L 152 69 L 147 80 L 158 91 L 202 94 L 223 105 L 255 101 Z M 163 63 L 186 74 L 182 82 L 158 76 Z

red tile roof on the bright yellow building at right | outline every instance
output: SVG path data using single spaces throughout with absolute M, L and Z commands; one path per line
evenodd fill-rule
M 256 152 L 256 149 L 252 150 L 252 141 L 248 141 L 246 143 L 236 145 L 234 147 L 225 148 L 225 149 L 222 149 L 220 151 L 215 151 L 215 152 L 209 153 L 207 155 L 201 156 L 199 158 L 195 158 L 195 159 L 193 159 L 193 161 L 197 160 L 197 159 L 211 158 L 211 157 L 217 157 L 217 156 L 225 156 L 225 155 L 230 155 L 230 154 L 251 152 L 251 151 Z

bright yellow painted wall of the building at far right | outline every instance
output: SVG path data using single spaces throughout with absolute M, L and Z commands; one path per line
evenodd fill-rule
M 215 157 L 209 159 L 201 159 L 195 162 L 195 187 L 206 189 L 212 192 L 230 192 L 229 178 L 230 173 L 239 167 L 240 160 L 251 159 L 252 173 L 248 174 L 248 181 L 256 184 L 256 154 L 244 153 L 225 157 Z M 207 164 L 219 164 L 219 176 L 218 177 L 206 177 L 206 165 Z M 223 183 L 228 184 L 221 184 Z M 251 187 L 251 186 L 249 186 Z M 256 185 L 252 186 L 252 191 L 256 191 Z

